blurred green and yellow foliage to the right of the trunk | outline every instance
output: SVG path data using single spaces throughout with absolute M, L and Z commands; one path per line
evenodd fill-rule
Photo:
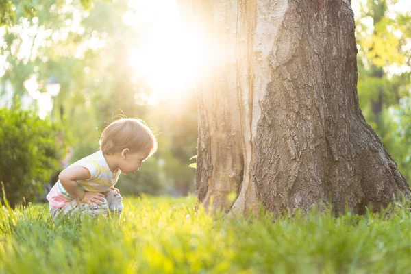
M 389 13 L 396 2 L 360 1 L 361 14 L 356 21 L 358 96 L 367 123 L 381 136 L 410 182 L 411 142 L 407 136 L 411 132 L 402 114 L 408 106 L 400 99 L 407 98 L 411 90 L 411 14 Z

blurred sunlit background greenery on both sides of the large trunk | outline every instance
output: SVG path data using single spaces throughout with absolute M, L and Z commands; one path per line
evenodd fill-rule
M 411 5 L 408 0 L 353 0 L 352 5 L 360 107 L 410 182 Z M 31 196 L 21 195 L 34 199 L 38 186 L 49 184 L 38 174 L 54 183 L 64 166 L 96 151 L 101 130 L 122 115 L 145 120 L 159 149 L 140 172 L 119 179 L 121 191 L 179 196 L 195 190 L 195 169 L 188 167 L 197 145 L 190 79 L 202 62 L 195 51 L 201 40 L 186 32 L 183 43 L 175 32 L 175 1 L 0 0 L 0 12 L 0 150 L 9 155 L 2 155 L 0 170 L 23 164 L 14 156 L 25 153 L 18 147 L 35 144 L 34 132 L 13 145 L 6 141 L 5 122 L 11 117 L 32 117 L 15 120 L 23 129 L 45 121 L 49 135 L 38 147 L 58 144 L 47 158 L 36 145 L 31 148 L 36 153 L 25 165 L 37 173 L 14 178 L 22 188 L 33 186 Z M 35 166 L 36 157 L 53 164 Z M 14 173 L 5 174 L 0 181 L 10 192 Z

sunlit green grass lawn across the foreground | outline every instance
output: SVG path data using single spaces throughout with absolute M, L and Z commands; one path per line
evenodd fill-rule
M 0 208 L 0 273 L 411 273 L 411 214 L 221 219 L 195 198 L 126 198 L 121 221 Z

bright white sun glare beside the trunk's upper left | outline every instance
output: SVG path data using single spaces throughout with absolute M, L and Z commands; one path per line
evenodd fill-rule
M 130 0 L 129 6 L 136 10 L 134 26 L 142 34 L 129 51 L 129 62 L 153 90 L 147 102 L 179 97 L 192 88 L 210 60 L 204 39 L 183 25 L 175 1 Z M 123 17 L 129 25 L 130 19 Z

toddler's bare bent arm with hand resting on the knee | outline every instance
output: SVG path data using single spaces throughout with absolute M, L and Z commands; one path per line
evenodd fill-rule
M 58 179 L 69 194 L 78 199 L 82 203 L 88 203 L 92 206 L 92 203 L 97 203 L 101 206 L 100 201 L 104 201 L 104 195 L 100 192 L 85 192 L 79 188 L 77 180 L 90 179 L 91 174 L 88 169 L 83 166 L 69 166 L 64 171 L 60 172 Z

